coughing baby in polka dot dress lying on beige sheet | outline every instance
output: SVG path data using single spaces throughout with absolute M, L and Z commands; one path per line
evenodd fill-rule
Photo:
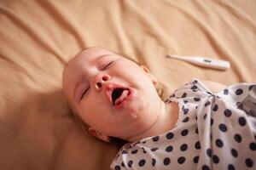
M 256 86 L 197 79 L 164 101 L 148 68 L 86 48 L 63 71 L 73 113 L 98 139 L 127 141 L 112 169 L 253 169 Z

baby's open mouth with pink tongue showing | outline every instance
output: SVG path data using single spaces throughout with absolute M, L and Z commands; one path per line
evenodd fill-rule
M 121 104 L 125 98 L 130 94 L 128 88 L 115 88 L 111 94 L 113 105 Z

